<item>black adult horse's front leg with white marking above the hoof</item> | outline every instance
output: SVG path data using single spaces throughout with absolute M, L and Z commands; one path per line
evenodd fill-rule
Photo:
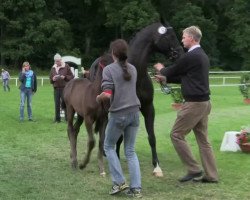
M 145 127 L 148 133 L 148 141 L 152 152 L 152 164 L 154 166 L 153 174 L 157 177 L 162 177 L 163 173 L 159 166 L 159 160 L 156 152 L 156 139 L 154 133 L 155 110 L 153 103 L 150 103 L 149 105 L 142 105 L 141 113 L 144 116 Z

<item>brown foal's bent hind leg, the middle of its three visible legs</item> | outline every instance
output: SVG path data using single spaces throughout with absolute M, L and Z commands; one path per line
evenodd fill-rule
M 86 117 L 84 118 L 85 120 L 85 126 L 87 129 L 87 133 L 88 133 L 88 144 L 87 144 L 87 153 L 85 155 L 85 158 L 83 160 L 83 162 L 79 165 L 80 169 L 84 169 L 87 164 L 89 163 L 89 159 L 90 159 L 90 155 L 91 155 L 91 151 L 95 146 L 95 137 L 94 137 L 94 131 L 93 131 L 93 119 L 91 119 L 90 117 Z

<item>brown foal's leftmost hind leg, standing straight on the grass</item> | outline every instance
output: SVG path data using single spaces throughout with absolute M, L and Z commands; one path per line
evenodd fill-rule
M 71 158 L 71 166 L 73 169 L 77 168 L 77 150 L 76 150 L 76 145 L 77 145 L 77 134 L 74 127 L 73 127 L 73 120 L 74 120 L 74 114 L 75 111 L 73 107 L 67 106 L 67 113 L 68 113 L 68 137 L 70 141 L 70 158 Z

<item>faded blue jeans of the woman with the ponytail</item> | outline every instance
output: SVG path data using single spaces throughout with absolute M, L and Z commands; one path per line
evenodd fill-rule
M 108 159 L 109 170 L 114 184 L 122 184 L 125 177 L 115 145 L 121 135 L 124 137 L 124 153 L 128 162 L 130 188 L 141 188 L 141 172 L 135 153 L 135 140 L 139 128 L 139 111 L 125 115 L 110 113 L 105 131 L 104 151 Z

